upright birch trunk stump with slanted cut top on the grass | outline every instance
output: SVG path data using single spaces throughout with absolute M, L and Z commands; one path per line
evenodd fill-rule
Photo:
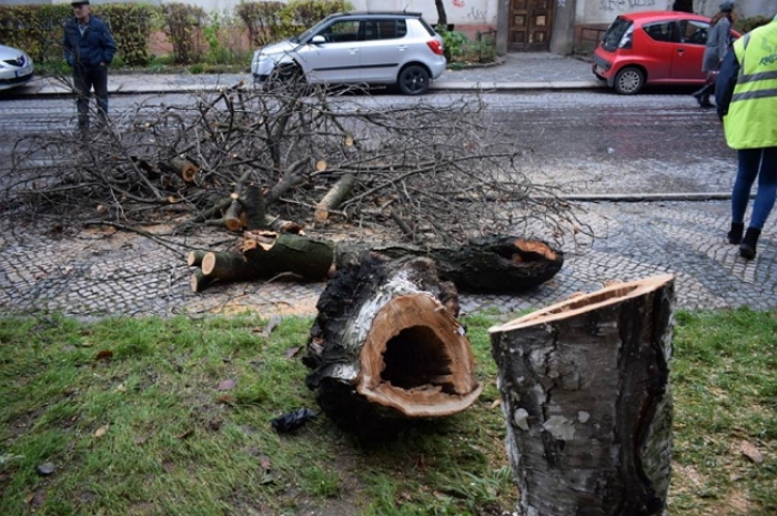
M 519 514 L 664 514 L 673 304 L 662 275 L 490 330 Z

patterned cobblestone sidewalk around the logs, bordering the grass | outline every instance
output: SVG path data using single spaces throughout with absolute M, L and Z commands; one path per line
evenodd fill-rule
M 677 306 L 722 308 L 777 306 L 777 246 L 765 240 L 751 262 L 726 242 L 725 201 L 584 203 L 597 237 L 566 242 L 562 271 L 517 295 L 462 295 L 464 312 L 512 314 L 536 310 L 610 281 L 676 275 Z M 324 283 L 273 281 L 190 291 L 192 270 L 183 254 L 151 240 L 91 230 L 75 237 L 42 237 L 0 227 L 0 310 L 59 311 L 79 317 L 108 314 L 314 315 Z M 183 242 L 182 242 L 183 243 Z M 185 242 L 202 244 L 196 240 Z

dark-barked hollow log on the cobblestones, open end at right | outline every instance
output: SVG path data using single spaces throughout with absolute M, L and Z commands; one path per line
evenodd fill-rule
M 339 243 L 337 265 L 363 250 L 363 243 Z M 404 244 L 371 245 L 390 257 L 428 256 L 440 277 L 461 291 L 515 293 L 551 280 L 564 265 L 564 253 L 547 242 L 509 235 L 472 239 L 461 247 L 418 247 Z

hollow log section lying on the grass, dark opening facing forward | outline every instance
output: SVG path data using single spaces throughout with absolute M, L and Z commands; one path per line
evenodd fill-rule
M 303 362 L 307 386 L 339 424 L 370 433 L 458 413 L 482 386 L 455 286 L 425 257 L 352 256 L 319 299 Z

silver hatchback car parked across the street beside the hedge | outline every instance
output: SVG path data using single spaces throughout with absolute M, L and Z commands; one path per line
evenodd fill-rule
M 339 12 L 256 50 L 258 83 L 294 75 L 311 84 L 396 84 L 418 95 L 445 71 L 443 39 L 418 12 Z

